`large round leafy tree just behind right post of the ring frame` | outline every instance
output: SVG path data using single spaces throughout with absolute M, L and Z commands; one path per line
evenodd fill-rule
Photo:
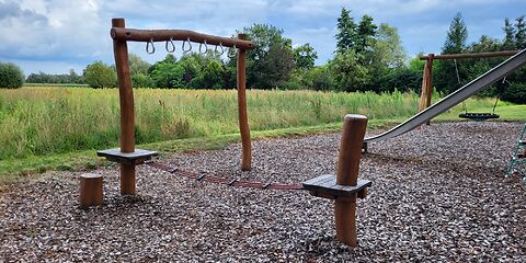
M 267 24 L 254 24 L 243 30 L 255 48 L 247 53 L 247 85 L 272 89 L 289 80 L 293 69 L 291 41 L 283 30 Z M 229 64 L 232 67 L 232 62 Z

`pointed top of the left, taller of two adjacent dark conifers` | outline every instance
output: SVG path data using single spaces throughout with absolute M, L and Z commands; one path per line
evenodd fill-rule
M 345 8 L 342 8 L 336 26 L 336 53 L 344 53 L 356 44 L 356 23 L 353 16 L 351 16 L 351 10 L 347 11 Z

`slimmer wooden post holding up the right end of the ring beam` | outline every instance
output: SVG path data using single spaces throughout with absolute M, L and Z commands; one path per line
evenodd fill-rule
M 239 39 L 247 39 L 245 34 L 239 34 Z M 247 114 L 247 77 L 245 77 L 247 50 L 238 48 L 238 115 L 239 132 L 241 134 L 241 171 L 250 171 L 252 168 L 252 146 L 250 142 L 249 118 Z

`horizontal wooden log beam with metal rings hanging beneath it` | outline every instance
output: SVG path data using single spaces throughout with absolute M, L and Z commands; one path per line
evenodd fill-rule
M 186 30 L 135 30 L 112 27 L 110 35 L 114 41 L 130 42 L 164 42 L 164 41 L 187 41 L 194 43 L 205 43 L 207 45 L 222 45 L 224 47 L 233 47 L 241 49 L 252 49 L 255 45 L 250 41 L 238 38 L 207 35 Z

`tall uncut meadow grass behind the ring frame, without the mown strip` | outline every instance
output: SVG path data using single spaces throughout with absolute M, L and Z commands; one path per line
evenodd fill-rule
M 238 133 L 235 90 L 136 89 L 138 144 Z M 414 114 L 415 94 L 248 91 L 253 130 Z M 118 146 L 117 89 L 22 88 L 0 90 L 0 160 Z

